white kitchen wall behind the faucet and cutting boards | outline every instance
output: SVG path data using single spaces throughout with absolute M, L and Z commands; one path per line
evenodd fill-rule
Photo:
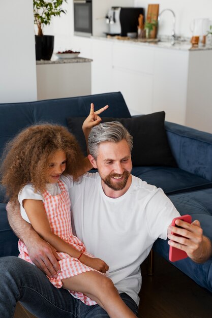
M 212 1 L 211 0 L 134 0 L 134 7 L 146 8 L 148 4 L 159 4 L 159 13 L 163 9 L 172 9 L 176 16 L 175 33 L 178 36 L 191 37 L 192 32 L 190 23 L 195 18 L 212 19 Z M 166 12 L 161 16 L 160 34 L 171 34 L 171 13 Z

